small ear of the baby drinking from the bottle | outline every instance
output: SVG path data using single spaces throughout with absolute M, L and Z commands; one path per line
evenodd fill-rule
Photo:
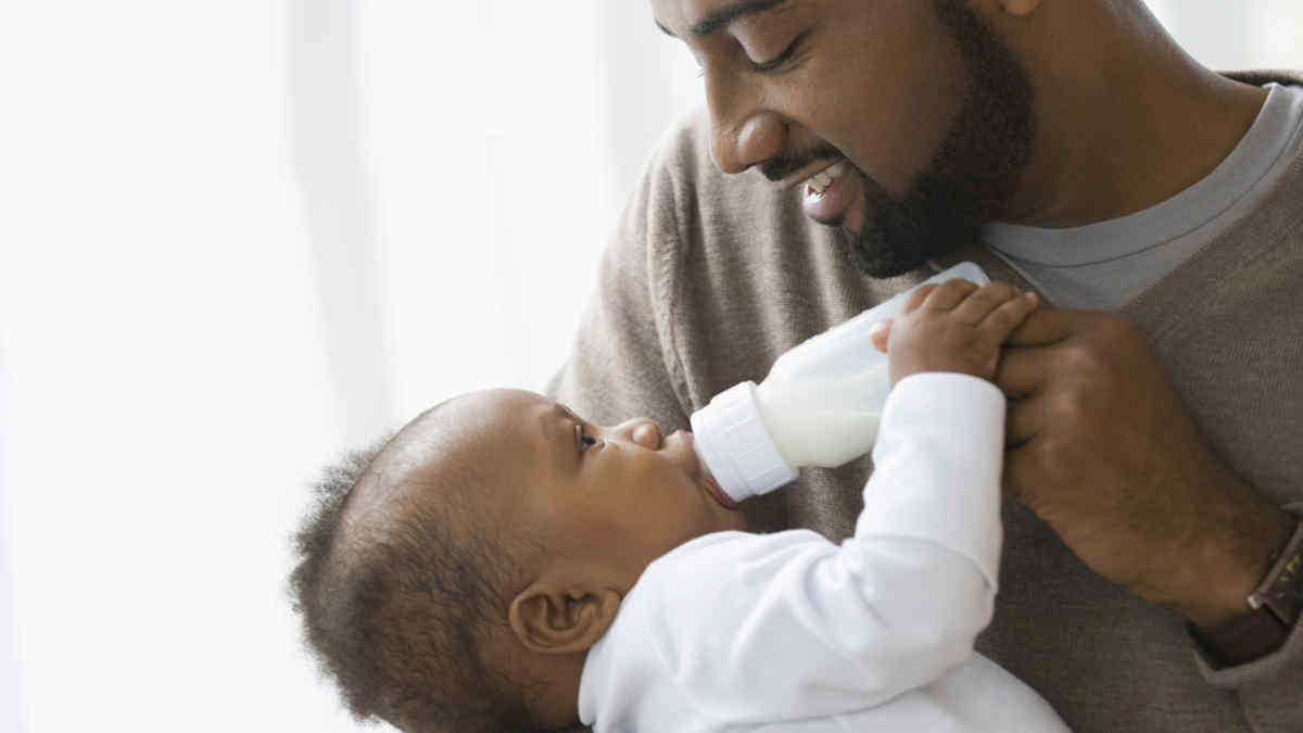
M 511 630 L 532 652 L 588 651 L 615 621 L 620 593 L 611 588 L 560 588 L 537 582 L 511 601 Z

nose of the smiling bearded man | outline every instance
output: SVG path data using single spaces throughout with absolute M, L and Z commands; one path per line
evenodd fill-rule
M 787 125 L 782 117 L 754 106 L 756 93 L 706 81 L 710 108 L 710 157 L 726 173 L 740 173 L 783 150 Z

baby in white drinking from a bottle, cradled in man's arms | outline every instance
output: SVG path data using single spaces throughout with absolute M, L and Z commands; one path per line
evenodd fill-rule
M 855 536 L 745 532 L 692 434 L 463 395 L 328 471 L 296 609 L 360 717 L 409 732 L 1066 732 L 976 655 L 999 562 L 1001 344 L 1033 293 L 920 288 Z

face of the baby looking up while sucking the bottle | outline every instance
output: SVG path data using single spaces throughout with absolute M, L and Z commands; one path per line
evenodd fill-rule
M 487 420 L 481 434 L 491 436 L 476 459 L 502 471 L 498 496 L 486 497 L 491 510 L 539 540 L 550 565 L 627 591 L 678 545 L 745 528 L 706 483 L 692 433 L 662 436 L 645 419 L 593 425 L 525 391 L 465 399 Z

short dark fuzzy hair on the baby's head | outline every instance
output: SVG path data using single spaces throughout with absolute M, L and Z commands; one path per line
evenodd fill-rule
M 480 652 L 502 625 L 493 620 L 503 616 L 509 558 L 468 507 L 478 477 L 440 471 L 450 480 L 422 486 L 420 506 L 395 501 L 345 527 L 358 485 L 394 479 L 379 466 L 387 443 L 345 454 L 314 485 L 289 576 L 306 644 L 360 721 L 409 732 L 525 730 L 523 687 Z

